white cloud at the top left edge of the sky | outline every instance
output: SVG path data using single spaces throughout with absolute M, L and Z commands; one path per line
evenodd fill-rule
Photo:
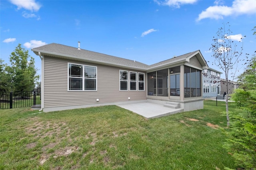
M 30 11 L 38 11 L 41 5 L 35 0 L 10 0 L 10 2 L 18 7 L 18 10 L 24 8 Z

